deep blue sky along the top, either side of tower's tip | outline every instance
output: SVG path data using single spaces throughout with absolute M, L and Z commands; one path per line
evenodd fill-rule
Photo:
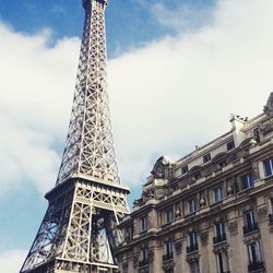
M 214 0 L 112 0 L 107 9 L 108 26 L 107 43 L 109 57 L 158 39 L 166 34 L 174 35 L 175 31 L 158 23 L 152 12 L 157 3 L 170 11 L 181 4 L 194 10 L 206 10 L 213 7 Z M 206 13 L 209 16 L 210 14 Z M 19 32 L 35 34 L 44 28 L 50 28 L 52 39 L 66 36 L 81 36 L 83 10 L 81 0 L 2 0 L 0 5 L 2 21 Z M 189 17 L 191 21 L 191 17 Z M 191 21 L 192 25 L 202 22 Z

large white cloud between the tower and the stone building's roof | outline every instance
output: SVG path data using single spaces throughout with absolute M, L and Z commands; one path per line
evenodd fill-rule
M 110 63 L 118 155 L 129 182 L 149 175 L 153 156 L 182 156 L 229 130 L 230 112 L 262 111 L 273 85 L 272 8 L 269 0 L 218 1 L 209 25 Z

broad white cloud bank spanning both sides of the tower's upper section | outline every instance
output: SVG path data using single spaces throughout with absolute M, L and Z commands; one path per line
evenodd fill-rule
M 230 112 L 261 112 L 272 88 L 272 9 L 271 0 L 221 0 L 199 31 L 109 62 L 114 134 L 127 185 L 144 182 L 157 156 L 182 156 L 229 130 Z M 66 138 L 79 40 L 49 48 L 46 34 L 27 36 L 4 25 L 0 35 L 0 183 L 8 190 L 12 180 L 31 182 L 44 192 L 60 164 L 55 145 Z

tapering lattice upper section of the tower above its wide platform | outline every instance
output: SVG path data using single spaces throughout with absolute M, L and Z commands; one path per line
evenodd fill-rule
M 71 177 L 120 183 L 106 82 L 107 0 L 83 0 L 85 22 L 74 100 L 57 185 Z

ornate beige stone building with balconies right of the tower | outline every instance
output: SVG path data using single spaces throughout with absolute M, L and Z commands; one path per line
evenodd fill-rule
M 120 224 L 121 273 L 273 273 L 273 93 L 252 119 L 161 157 Z

